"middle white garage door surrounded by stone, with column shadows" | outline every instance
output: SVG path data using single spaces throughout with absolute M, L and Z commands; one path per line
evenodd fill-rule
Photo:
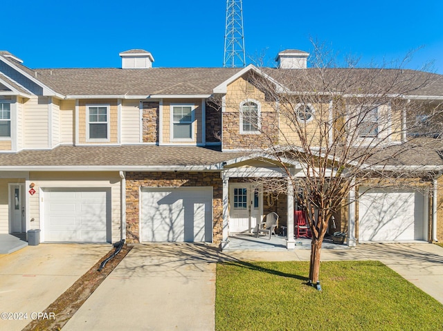
M 212 242 L 212 187 L 143 188 L 141 240 Z

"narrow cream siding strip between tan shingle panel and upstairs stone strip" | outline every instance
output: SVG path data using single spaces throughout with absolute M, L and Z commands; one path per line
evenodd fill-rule
M 140 142 L 140 108 L 138 101 L 123 100 L 122 104 L 122 144 Z

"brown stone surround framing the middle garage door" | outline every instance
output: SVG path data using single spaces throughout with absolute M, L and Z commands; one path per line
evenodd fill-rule
M 213 187 L 213 243 L 221 243 L 223 228 L 223 187 L 219 173 L 127 172 L 126 240 L 140 243 L 141 187 Z

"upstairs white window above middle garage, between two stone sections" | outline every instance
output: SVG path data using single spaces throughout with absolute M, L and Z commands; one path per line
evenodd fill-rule
M 194 130 L 194 111 L 191 104 L 171 105 L 172 140 L 192 141 Z

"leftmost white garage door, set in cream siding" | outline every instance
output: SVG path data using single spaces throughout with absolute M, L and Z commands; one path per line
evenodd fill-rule
M 107 189 L 44 189 L 44 241 L 104 243 Z

